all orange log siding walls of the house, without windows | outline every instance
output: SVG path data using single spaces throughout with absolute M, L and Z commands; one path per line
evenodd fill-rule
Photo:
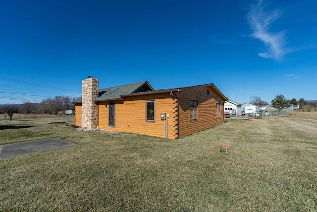
M 169 114 L 165 123 L 166 136 L 169 139 L 177 139 L 224 122 L 223 97 L 210 87 L 206 85 L 187 87 L 174 94 L 176 99 L 169 93 L 163 93 L 98 102 L 98 128 L 164 138 L 164 121 L 160 119 L 160 114 L 166 113 Z M 155 122 L 146 121 L 148 100 L 155 100 Z M 191 100 L 198 101 L 197 120 L 190 120 Z M 110 102 L 115 102 L 115 127 L 108 126 Z M 217 118 L 217 103 L 220 104 L 220 118 Z M 81 104 L 76 104 L 75 125 L 80 126 L 81 119 Z

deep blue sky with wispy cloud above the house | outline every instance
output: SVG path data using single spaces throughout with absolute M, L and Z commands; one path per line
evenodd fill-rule
M 231 100 L 317 99 L 316 0 L 8 0 L 0 104 L 148 80 L 206 83 Z

